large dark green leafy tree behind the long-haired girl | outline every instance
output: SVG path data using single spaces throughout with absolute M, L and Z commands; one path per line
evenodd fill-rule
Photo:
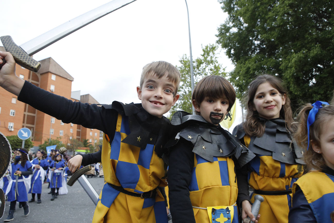
M 334 2 L 328 0 L 220 0 L 228 13 L 217 43 L 235 69 L 237 97 L 256 75 L 281 78 L 292 108 L 329 101 L 334 89 Z

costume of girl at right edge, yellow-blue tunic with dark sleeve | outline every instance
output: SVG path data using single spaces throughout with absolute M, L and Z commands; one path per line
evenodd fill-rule
M 309 172 L 293 184 L 289 223 L 332 223 L 334 211 L 334 170 L 326 166 L 322 172 Z

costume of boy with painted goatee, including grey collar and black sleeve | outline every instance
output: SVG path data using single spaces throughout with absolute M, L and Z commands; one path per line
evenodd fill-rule
M 251 152 L 202 116 L 184 112 L 181 117 L 178 115 L 180 112 L 174 114 L 171 123 L 179 124 L 182 130 L 166 144 L 170 154 L 165 159 L 169 164 L 168 193 L 173 223 L 237 223 L 238 163 L 235 162 Z M 254 156 L 248 156 L 248 160 Z M 248 196 L 247 190 L 245 194 Z

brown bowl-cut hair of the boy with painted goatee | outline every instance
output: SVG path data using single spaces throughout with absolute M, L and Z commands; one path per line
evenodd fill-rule
M 195 100 L 195 102 L 199 105 L 205 97 L 225 97 L 228 100 L 228 112 L 231 110 L 235 102 L 235 91 L 231 83 L 229 83 L 225 78 L 217 75 L 210 75 L 202 78 L 196 84 L 191 101 Z M 200 115 L 199 112 L 196 112 L 196 114 Z

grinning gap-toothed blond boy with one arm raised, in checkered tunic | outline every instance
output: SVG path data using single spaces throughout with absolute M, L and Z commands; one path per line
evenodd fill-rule
M 137 87 L 141 104 L 98 106 L 73 102 L 24 82 L 15 75 L 10 53 L 0 52 L 0 63 L 3 57 L 7 63 L 0 70 L 0 86 L 18 100 L 64 123 L 104 132 L 102 150 L 75 155 L 68 162 L 74 172 L 81 164 L 102 161 L 105 185 L 93 222 L 167 222 L 164 197 L 157 188 L 167 185 L 160 157 L 170 122 L 163 114 L 179 98 L 179 71 L 164 61 L 150 63 Z

